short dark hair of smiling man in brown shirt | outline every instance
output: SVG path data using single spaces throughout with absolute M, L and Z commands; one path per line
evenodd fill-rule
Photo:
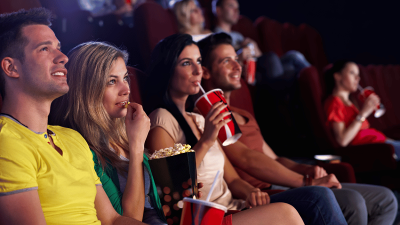
M 197 42 L 201 53 L 201 65 L 211 69 L 211 51 L 220 44 L 232 45 L 232 37 L 224 32 L 213 33 Z

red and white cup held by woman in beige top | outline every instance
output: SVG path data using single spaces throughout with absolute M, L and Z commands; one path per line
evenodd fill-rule
M 223 96 L 223 92 L 221 89 L 213 89 L 205 94 L 201 95 L 195 102 L 194 105 L 198 108 L 200 113 L 205 117 L 208 111 L 211 109 L 211 106 L 218 101 L 223 101 L 226 103 L 225 97 Z M 229 111 L 229 105 L 222 109 L 219 113 Z M 232 144 L 237 141 L 237 139 L 241 136 L 241 131 L 239 126 L 236 123 L 232 114 L 229 114 L 223 119 L 232 118 L 227 124 L 222 126 L 222 128 L 218 132 L 218 138 L 222 142 L 223 146 Z

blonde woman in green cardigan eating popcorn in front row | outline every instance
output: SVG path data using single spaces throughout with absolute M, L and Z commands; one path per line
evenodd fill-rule
M 86 139 L 104 191 L 119 214 L 166 224 L 143 154 L 149 118 L 137 103 L 124 107 L 130 92 L 127 52 L 86 42 L 68 57 L 69 91 L 53 103 L 51 123 L 75 129 Z

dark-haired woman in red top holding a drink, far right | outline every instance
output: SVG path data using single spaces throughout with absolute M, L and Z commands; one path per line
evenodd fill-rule
M 366 119 L 380 104 L 379 97 L 370 94 L 360 109 L 349 99 L 350 93 L 357 90 L 359 80 L 358 66 L 352 61 L 337 61 L 326 71 L 326 90 L 330 94 L 324 105 L 326 124 L 340 146 L 386 142 L 393 145 L 396 160 L 400 160 L 400 141 L 389 139 L 371 128 Z

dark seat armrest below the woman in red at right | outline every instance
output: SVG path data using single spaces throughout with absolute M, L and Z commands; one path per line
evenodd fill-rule
M 392 170 L 396 168 L 394 148 L 386 143 L 352 145 L 336 148 L 343 162 L 350 163 L 355 172 Z

